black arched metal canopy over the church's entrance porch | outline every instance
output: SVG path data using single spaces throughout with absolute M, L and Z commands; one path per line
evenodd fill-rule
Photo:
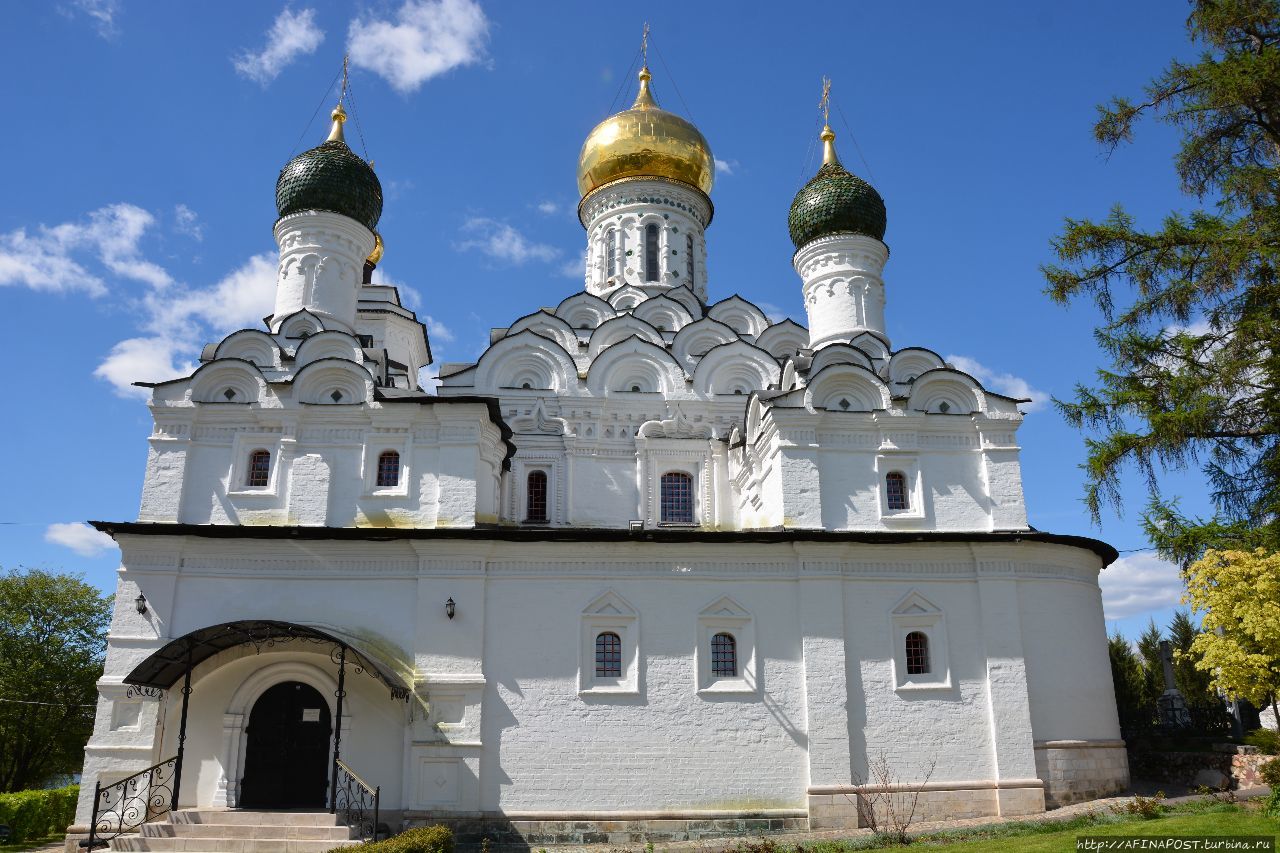
M 339 654 L 356 671 L 364 671 L 381 681 L 393 699 L 407 699 L 410 688 L 385 663 L 375 660 L 349 639 L 337 637 L 319 628 L 266 619 L 250 619 L 221 625 L 210 625 L 169 640 L 124 676 L 125 684 L 138 688 L 168 690 L 195 666 L 212 656 L 237 646 L 252 646 L 259 652 L 276 643 L 312 643 L 328 646 L 329 656 L 337 663 Z

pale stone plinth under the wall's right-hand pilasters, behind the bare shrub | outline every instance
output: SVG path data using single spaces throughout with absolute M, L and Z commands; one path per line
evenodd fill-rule
M 950 821 L 966 817 L 1019 817 L 1044 811 L 1039 779 L 1004 781 L 943 781 L 923 785 L 824 785 L 809 789 L 809 829 L 858 829 L 869 826 L 876 809 L 884 825 L 884 812 L 911 812 L 911 821 Z

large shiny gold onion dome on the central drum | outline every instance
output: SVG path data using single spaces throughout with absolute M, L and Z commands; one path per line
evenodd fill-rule
M 649 92 L 649 68 L 640 69 L 640 93 L 631 109 L 611 115 L 590 132 L 577 158 L 577 191 L 586 195 L 620 178 L 668 178 L 710 195 L 716 161 L 705 137 L 668 113 Z

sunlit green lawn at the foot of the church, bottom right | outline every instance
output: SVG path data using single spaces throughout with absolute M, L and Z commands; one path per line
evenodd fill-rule
M 1075 850 L 1078 835 L 1270 835 L 1277 836 L 1280 821 L 1212 799 L 1180 804 L 1161 817 L 1142 820 L 1130 815 L 1082 815 L 1068 821 L 1024 821 L 931 833 L 919 836 L 913 849 L 945 853 L 1050 853 Z M 804 853 L 846 853 L 883 849 L 874 838 L 803 844 Z M 791 848 L 794 849 L 794 848 Z M 899 848 L 901 849 L 901 848 Z M 781 845 L 780 845 L 781 853 Z

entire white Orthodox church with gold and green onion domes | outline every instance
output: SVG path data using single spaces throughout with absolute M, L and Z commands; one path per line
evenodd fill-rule
M 643 843 L 856 826 L 878 760 L 924 817 L 1128 784 L 1116 552 L 1028 525 L 1027 401 L 886 337 L 884 202 L 829 128 L 788 218 L 808 325 L 717 293 L 712 152 L 649 81 L 581 151 L 584 289 L 434 393 L 342 106 L 284 167 L 274 313 L 154 386 L 138 517 L 95 523 L 79 825 L 364 780 L 392 830 Z

